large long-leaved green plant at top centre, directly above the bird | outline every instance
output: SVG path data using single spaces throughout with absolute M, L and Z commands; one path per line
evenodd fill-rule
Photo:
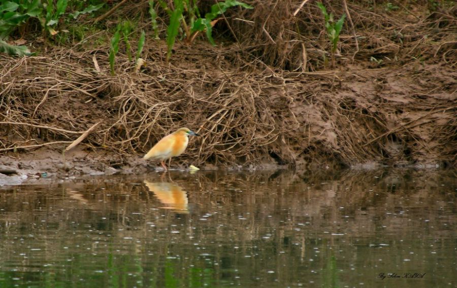
M 170 24 L 167 28 L 168 59 L 171 56 L 171 52 L 173 46 L 175 45 L 175 40 L 178 36 L 181 25 L 184 29 L 184 41 L 186 44 L 191 44 L 201 31 L 206 31 L 206 36 L 209 42 L 212 45 L 216 45 L 212 37 L 212 27 L 219 20 L 216 19 L 216 17 L 224 13 L 228 8 L 235 6 L 240 6 L 246 9 L 253 8 L 252 6 L 239 1 L 225 0 L 224 2 L 218 2 L 211 6 L 211 12 L 206 13 L 205 18 L 202 18 L 200 17 L 200 12 L 196 5 L 196 1 L 194 0 L 174 0 L 173 4 L 173 9 L 171 9 L 163 1 L 159 0 L 160 7 L 167 11 L 170 15 Z M 184 12 L 186 12 L 185 15 Z

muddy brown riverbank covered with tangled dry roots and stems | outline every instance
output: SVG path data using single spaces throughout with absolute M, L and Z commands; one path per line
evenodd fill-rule
M 115 76 L 107 46 L 0 55 L 0 173 L 144 172 L 157 163 L 141 156 L 183 126 L 202 137 L 172 167 L 455 167 L 457 6 L 386 11 L 349 1 L 354 30 L 346 21 L 332 68 L 320 11 L 306 4 L 294 16 L 301 3 L 252 1 L 215 27 L 220 46 L 178 43 L 169 62 L 151 35 L 140 72 L 125 47 Z

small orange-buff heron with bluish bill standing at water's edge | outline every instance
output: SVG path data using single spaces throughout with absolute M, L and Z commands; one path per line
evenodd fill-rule
M 143 159 L 154 159 L 160 160 L 160 164 L 168 171 L 167 167 L 165 166 L 165 160 L 170 159 L 168 166 L 170 166 L 171 158 L 176 157 L 182 154 L 184 150 L 187 148 L 187 144 L 189 143 L 189 136 L 200 136 L 199 134 L 191 131 L 188 128 L 179 128 L 172 134 L 165 136 L 164 138 L 160 139 L 149 152 L 147 152 Z

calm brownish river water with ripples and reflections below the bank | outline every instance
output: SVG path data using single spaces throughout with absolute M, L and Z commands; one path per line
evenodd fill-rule
M 456 171 L 0 187 L 0 287 L 457 287 Z

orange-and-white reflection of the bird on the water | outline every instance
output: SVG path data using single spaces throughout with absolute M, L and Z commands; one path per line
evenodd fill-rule
M 162 208 L 188 213 L 187 194 L 186 191 L 182 190 L 181 186 L 171 182 L 149 182 L 147 180 L 144 180 L 144 184 L 146 184 L 149 191 L 155 194 L 160 202 L 166 205 Z

